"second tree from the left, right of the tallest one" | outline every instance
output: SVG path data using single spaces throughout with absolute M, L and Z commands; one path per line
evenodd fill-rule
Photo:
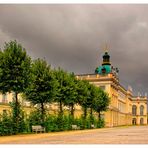
M 53 70 L 45 60 L 37 59 L 31 66 L 31 84 L 25 91 L 26 99 L 40 105 L 41 121 L 44 122 L 45 105 L 56 96 L 57 81 Z

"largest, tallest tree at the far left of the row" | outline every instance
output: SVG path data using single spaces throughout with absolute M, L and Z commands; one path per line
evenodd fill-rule
M 30 83 L 31 58 L 17 41 L 5 43 L 0 51 L 0 91 L 15 93 L 16 126 L 18 127 L 18 94 L 25 91 Z

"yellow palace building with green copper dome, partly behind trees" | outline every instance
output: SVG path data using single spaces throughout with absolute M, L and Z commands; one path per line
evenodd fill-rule
M 106 112 L 102 113 L 106 127 L 121 125 L 146 125 L 147 124 L 147 97 L 133 96 L 132 88 L 125 89 L 118 78 L 119 70 L 111 65 L 110 55 L 106 51 L 103 55 L 102 65 L 95 69 L 92 74 L 77 75 L 77 79 L 87 80 L 90 83 L 102 88 L 109 94 L 110 105 Z M 0 95 L 0 113 L 10 110 L 8 105 L 13 99 L 13 93 Z M 26 111 L 30 110 L 30 103 L 24 102 Z M 56 106 L 53 104 L 53 108 Z M 76 107 L 77 113 L 80 114 L 81 108 Z

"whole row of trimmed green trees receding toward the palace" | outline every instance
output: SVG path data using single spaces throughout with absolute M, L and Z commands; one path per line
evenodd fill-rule
M 63 107 L 69 107 L 69 113 L 74 118 L 75 106 L 80 105 L 84 119 L 88 109 L 90 116 L 93 111 L 106 111 L 109 105 L 108 94 L 86 80 L 76 79 L 74 73 L 68 73 L 61 68 L 51 69 L 43 59 L 32 60 L 26 50 L 17 41 L 5 43 L 0 51 L 0 92 L 15 93 L 16 126 L 19 122 L 18 94 L 34 105 L 40 106 L 41 121 L 44 123 L 45 106 L 58 103 L 59 115 L 63 115 Z

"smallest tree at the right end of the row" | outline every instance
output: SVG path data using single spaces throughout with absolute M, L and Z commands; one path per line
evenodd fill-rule
M 98 119 L 101 119 L 101 112 L 106 111 L 110 102 L 110 98 L 101 88 L 98 89 L 98 95 L 93 100 L 92 107 L 98 113 Z

